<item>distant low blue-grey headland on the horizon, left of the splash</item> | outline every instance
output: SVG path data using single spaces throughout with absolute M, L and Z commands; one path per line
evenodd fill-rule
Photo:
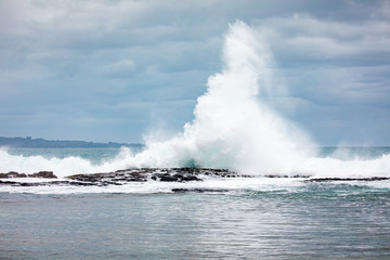
M 143 147 L 140 143 L 94 143 L 86 141 L 69 140 L 46 140 L 26 138 L 4 138 L 0 136 L 0 147 L 10 148 L 118 148 L 118 147 Z

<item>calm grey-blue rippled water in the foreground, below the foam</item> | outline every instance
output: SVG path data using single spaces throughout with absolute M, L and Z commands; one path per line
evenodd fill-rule
M 389 259 L 390 191 L 0 194 L 0 259 Z

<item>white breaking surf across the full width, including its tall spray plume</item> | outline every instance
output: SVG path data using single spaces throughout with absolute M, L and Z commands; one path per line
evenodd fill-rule
M 271 105 L 281 88 L 274 78 L 276 63 L 259 31 L 239 21 L 230 25 L 222 63 L 221 72 L 209 77 L 206 92 L 197 99 L 194 119 L 169 140 L 147 135 L 141 152 L 123 147 L 100 164 L 79 156 L 12 155 L 2 148 L 0 172 L 47 170 L 64 178 L 129 168 L 196 167 L 259 178 L 390 177 L 390 154 L 369 159 L 318 156 L 310 135 Z

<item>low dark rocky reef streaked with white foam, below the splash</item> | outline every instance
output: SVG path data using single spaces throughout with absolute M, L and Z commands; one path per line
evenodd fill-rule
M 81 173 L 74 174 L 61 180 L 57 179 L 52 171 L 39 171 L 31 174 L 11 171 L 9 173 L 0 173 L 0 185 L 12 186 L 49 186 L 49 185 L 72 185 L 72 186 L 107 186 L 123 185 L 130 182 L 202 182 L 206 178 L 253 178 L 253 176 L 240 174 L 227 169 L 208 169 L 208 168 L 141 168 L 126 169 L 114 172 L 102 173 Z M 42 181 L 21 181 L 12 180 L 15 178 L 42 178 Z M 370 177 L 370 178 L 312 178 L 310 176 L 278 176 L 269 174 L 263 178 L 300 178 L 307 183 L 315 182 L 348 182 L 348 181 L 386 181 L 388 177 Z M 212 190 L 214 191 L 214 190 Z M 173 188 L 172 192 L 207 192 L 203 188 Z

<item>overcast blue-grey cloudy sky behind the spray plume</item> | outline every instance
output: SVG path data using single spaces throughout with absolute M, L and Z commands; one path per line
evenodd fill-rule
M 274 55 L 278 113 L 320 145 L 390 145 L 384 0 L 0 0 L 0 135 L 181 132 L 237 20 Z

